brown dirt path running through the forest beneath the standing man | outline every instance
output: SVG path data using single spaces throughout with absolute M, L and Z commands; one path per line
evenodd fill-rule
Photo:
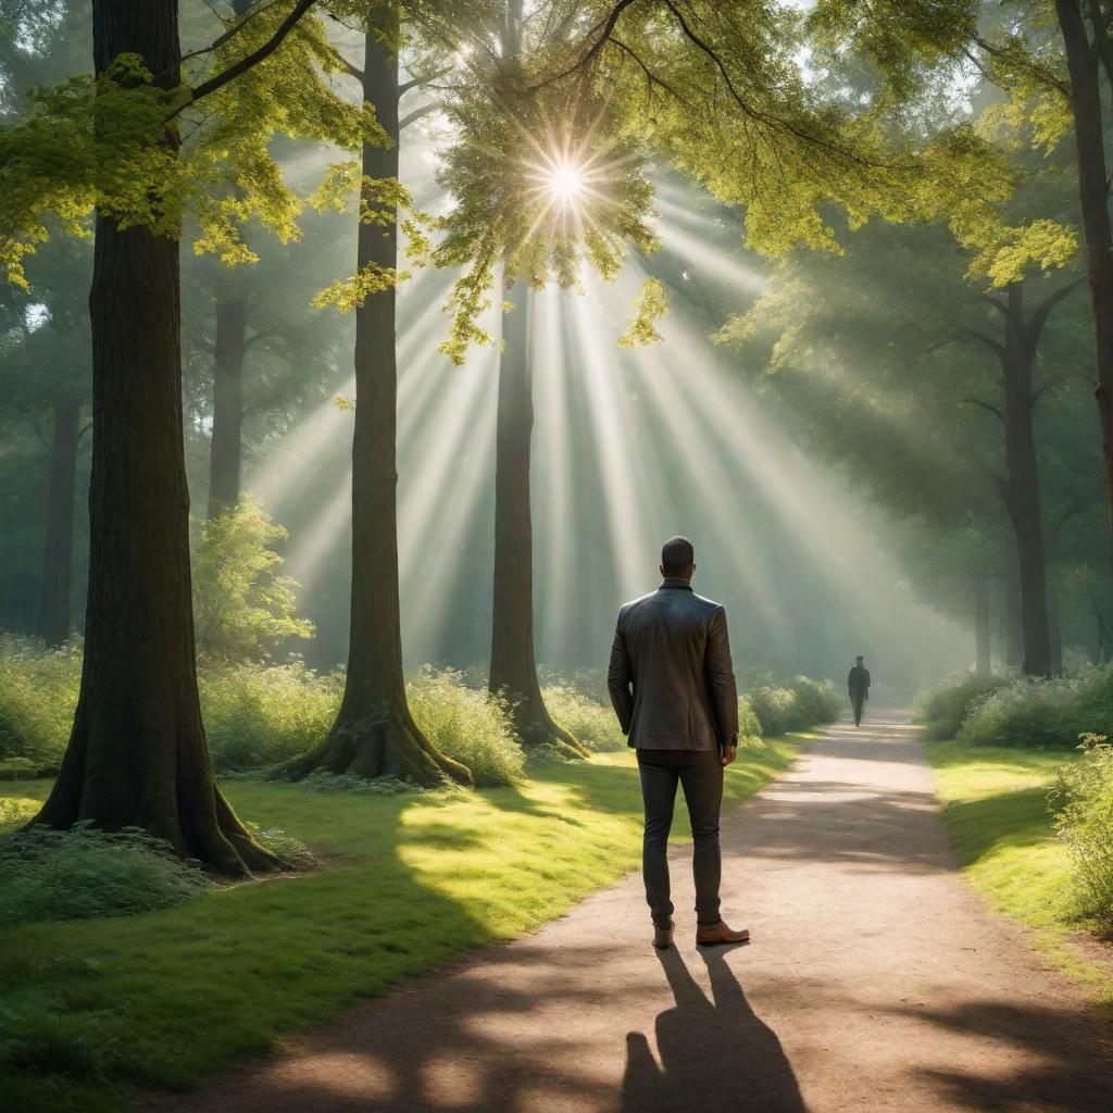
M 648 944 L 640 878 L 159 1109 L 206 1113 L 1113 1111 L 1080 991 L 959 879 L 897 712 L 833 727 L 723 824 L 754 942 Z

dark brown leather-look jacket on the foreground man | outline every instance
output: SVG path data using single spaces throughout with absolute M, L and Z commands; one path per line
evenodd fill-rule
M 727 614 L 687 580 L 667 578 L 619 611 L 607 687 L 630 746 L 711 750 L 737 740 Z

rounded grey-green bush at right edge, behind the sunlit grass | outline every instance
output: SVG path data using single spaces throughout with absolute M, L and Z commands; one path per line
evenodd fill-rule
M 1113 668 L 998 684 L 971 702 L 958 731 L 976 746 L 1074 748 L 1082 735 L 1113 735 Z

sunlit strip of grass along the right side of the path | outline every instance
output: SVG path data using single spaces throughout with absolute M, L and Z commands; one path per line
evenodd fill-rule
M 1071 895 L 1071 860 L 1047 809 L 1062 749 L 930 742 L 943 821 L 969 883 L 998 912 L 1033 928 L 1056 966 L 1113 1005 L 1113 959 L 1089 945 Z

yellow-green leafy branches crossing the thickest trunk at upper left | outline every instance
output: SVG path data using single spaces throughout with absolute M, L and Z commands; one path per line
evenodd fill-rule
M 324 23 L 303 16 L 265 61 L 193 107 L 194 88 L 266 42 L 287 14 L 283 3 L 254 11 L 217 49 L 198 52 L 177 88 L 157 87 L 142 59 L 124 53 L 97 80 L 71 78 L 36 92 L 0 130 L 0 266 L 9 278 L 26 285 L 22 259 L 47 238 L 50 216 L 83 235 L 93 207 L 122 227 L 175 237 L 191 211 L 200 227 L 196 250 L 228 264 L 254 260 L 243 239 L 250 220 L 295 238 L 302 203 L 272 157 L 272 138 L 347 150 L 385 140 L 370 106 L 349 104 L 328 81 L 342 63 Z M 226 26 L 214 23 L 214 39 Z M 178 149 L 166 142 L 175 132 Z

